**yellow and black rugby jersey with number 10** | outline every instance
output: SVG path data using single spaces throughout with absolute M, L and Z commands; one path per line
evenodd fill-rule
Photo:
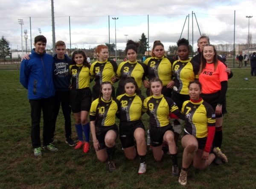
M 92 102 L 90 121 L 95 121 L 96 127 L 112 126 L 116 123 L 116 113 L 119 113 L 118 102 L 114 99 L 105 101 L 101 98 Z

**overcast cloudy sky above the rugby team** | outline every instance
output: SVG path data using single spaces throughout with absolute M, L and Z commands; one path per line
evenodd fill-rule
M 149 44 L 160 39 L 166 49 L 175 45 L 179 37 L 189 38 L 196 48 L 201 34 L 209 35 L 211 43 L 233 43 L 234 22 L 236 22 L 236 43 L 246 43 L 248 18 L 250 33 L 256 42 L 256 3 L 253 0 L 54 0 L 56 41 L 64 40 L 69 48 L 70 37 L 73 47 L 93 48 L 109 41 L 124 49 L 126 39 L 138 40 L 144 32 Z M 193 28 L 192 28 L 192 11 Z M 236 20 L 234 19 L 236 11 Z M 149 15 L 149 16 L 147 16 Z M 187 17 L 189 15 L 189 18 Z M 110 16 L 110 20 L 108 20 Z M 21 25 L 28 30 L 30 47 L 30 20 L 32 43 L 38 28 L 51 45 L 51 0 L 8 0 L 0 6 L 0 35 L 5 36 L 14 48 L 21 48 Z M 70 28 L 69 28 L 70 17 Z M 186 23 L 185 23 L 186 20 Z M 184 25 L 184 30 L 182 28 Z M 199 28 L 198 28 L 199 27 Z M 109 30 L 110 29 L 110 30 Z M 194 35 L 192 36 L 192 29 Z M 69 32 L 71 31 L 71 36 Z M 23 34 L 24 35 L 24 34 Z M 128 36 L 125 36 L 128 35 Z M 194 39 L 193 39 L 194 37 Z M 23 37 L 23 46 L 25 46 Z

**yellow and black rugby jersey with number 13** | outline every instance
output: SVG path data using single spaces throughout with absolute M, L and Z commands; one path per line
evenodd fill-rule
M 71 86 L 73 89 L 83 89 L 90 85 L 90 68 L 83 65 L 70 65 Z

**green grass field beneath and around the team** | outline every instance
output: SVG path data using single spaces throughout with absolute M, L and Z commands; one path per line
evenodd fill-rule
M 35 158 L 30 139 L 30 107 L 27 91 L 19 82 L 19 71 L 0 71 L 0 188 L 256 188 L 256 77 L 250 76 L 248 68 L 232 71 L 234 76 L 228 82 L 228 113 L 224 116 L 222 146 L 229 161 L 219 166 L 210 165 L 204 171 L 191 166 L 186 186 L 180 186 L 178 178 L 172 176 L 172 161 L 167 154 L 162 161 L 156 162 L 149 151 L 147 172 L 138 175 L 139 159 L 125 159 L 119 139 L 115 154 L 117 170 L 109 173 L 107 164 L 97 160 L 92 145 L 84 154 L 81 149 L 75 150 L 65 144 L 61 112 L 55 135 L 55 146 L 59 151 L 43 151 L 43 157 Z M 143 122 L 148 128 L 148 115 L 143 115 Z M 72 137 L 76 139 L 75 127 Z M 179 144 L 179 166 L 182 152 Z

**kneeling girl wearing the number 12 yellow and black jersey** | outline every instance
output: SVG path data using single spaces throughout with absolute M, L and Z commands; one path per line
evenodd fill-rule
M 119 134 L 125 157 L 128 159 L 136 158 L 135 143 L 140 158 L 139 174 L 146 172 L 146 141 L 145 127 L 140 119 L 144 96 L 137 95 L 138 86 L 133 77 L 128 77 L 124 81 L 125 93 L 117 96 L 119 101 L 120 118 Z

